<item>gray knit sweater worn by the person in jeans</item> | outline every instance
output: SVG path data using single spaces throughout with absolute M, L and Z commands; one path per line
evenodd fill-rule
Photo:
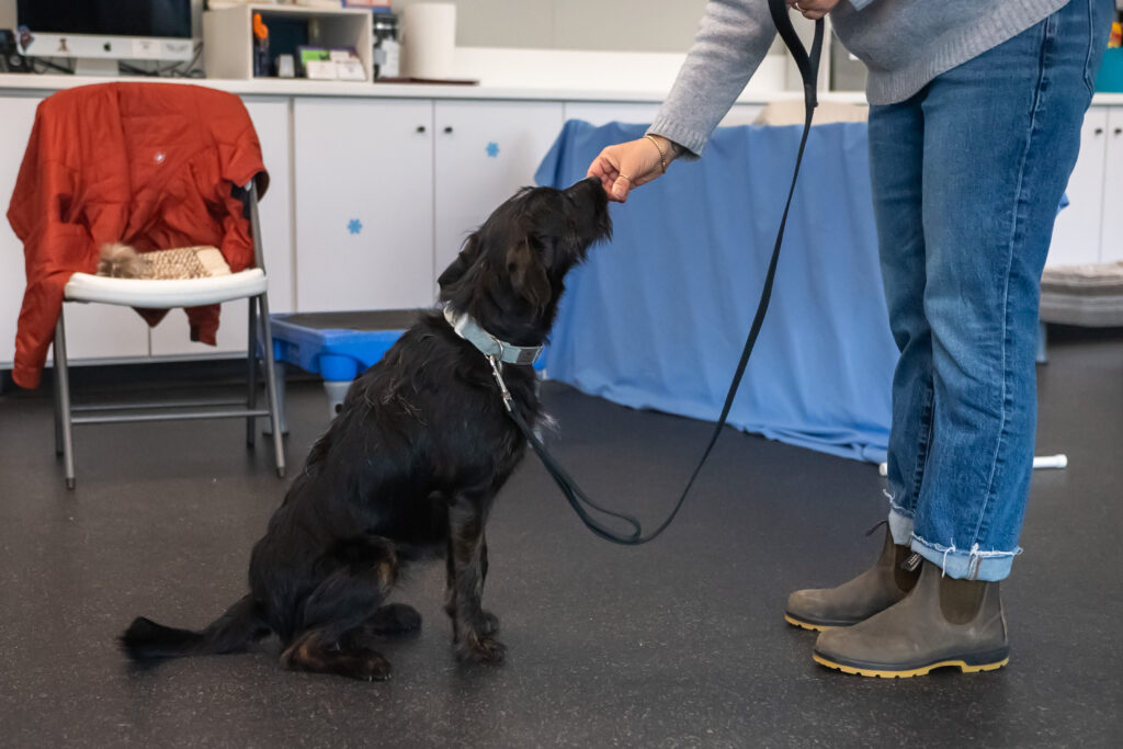
M 841 0 L 831 21 L 846 48 L 869 67 L 869 103 L 891 104 L 1067 1 Z M 694 46 L 648 131 L 686 148 L 687 158 L 701 155 L 775 36 L 767 0 L 710 0 Z

